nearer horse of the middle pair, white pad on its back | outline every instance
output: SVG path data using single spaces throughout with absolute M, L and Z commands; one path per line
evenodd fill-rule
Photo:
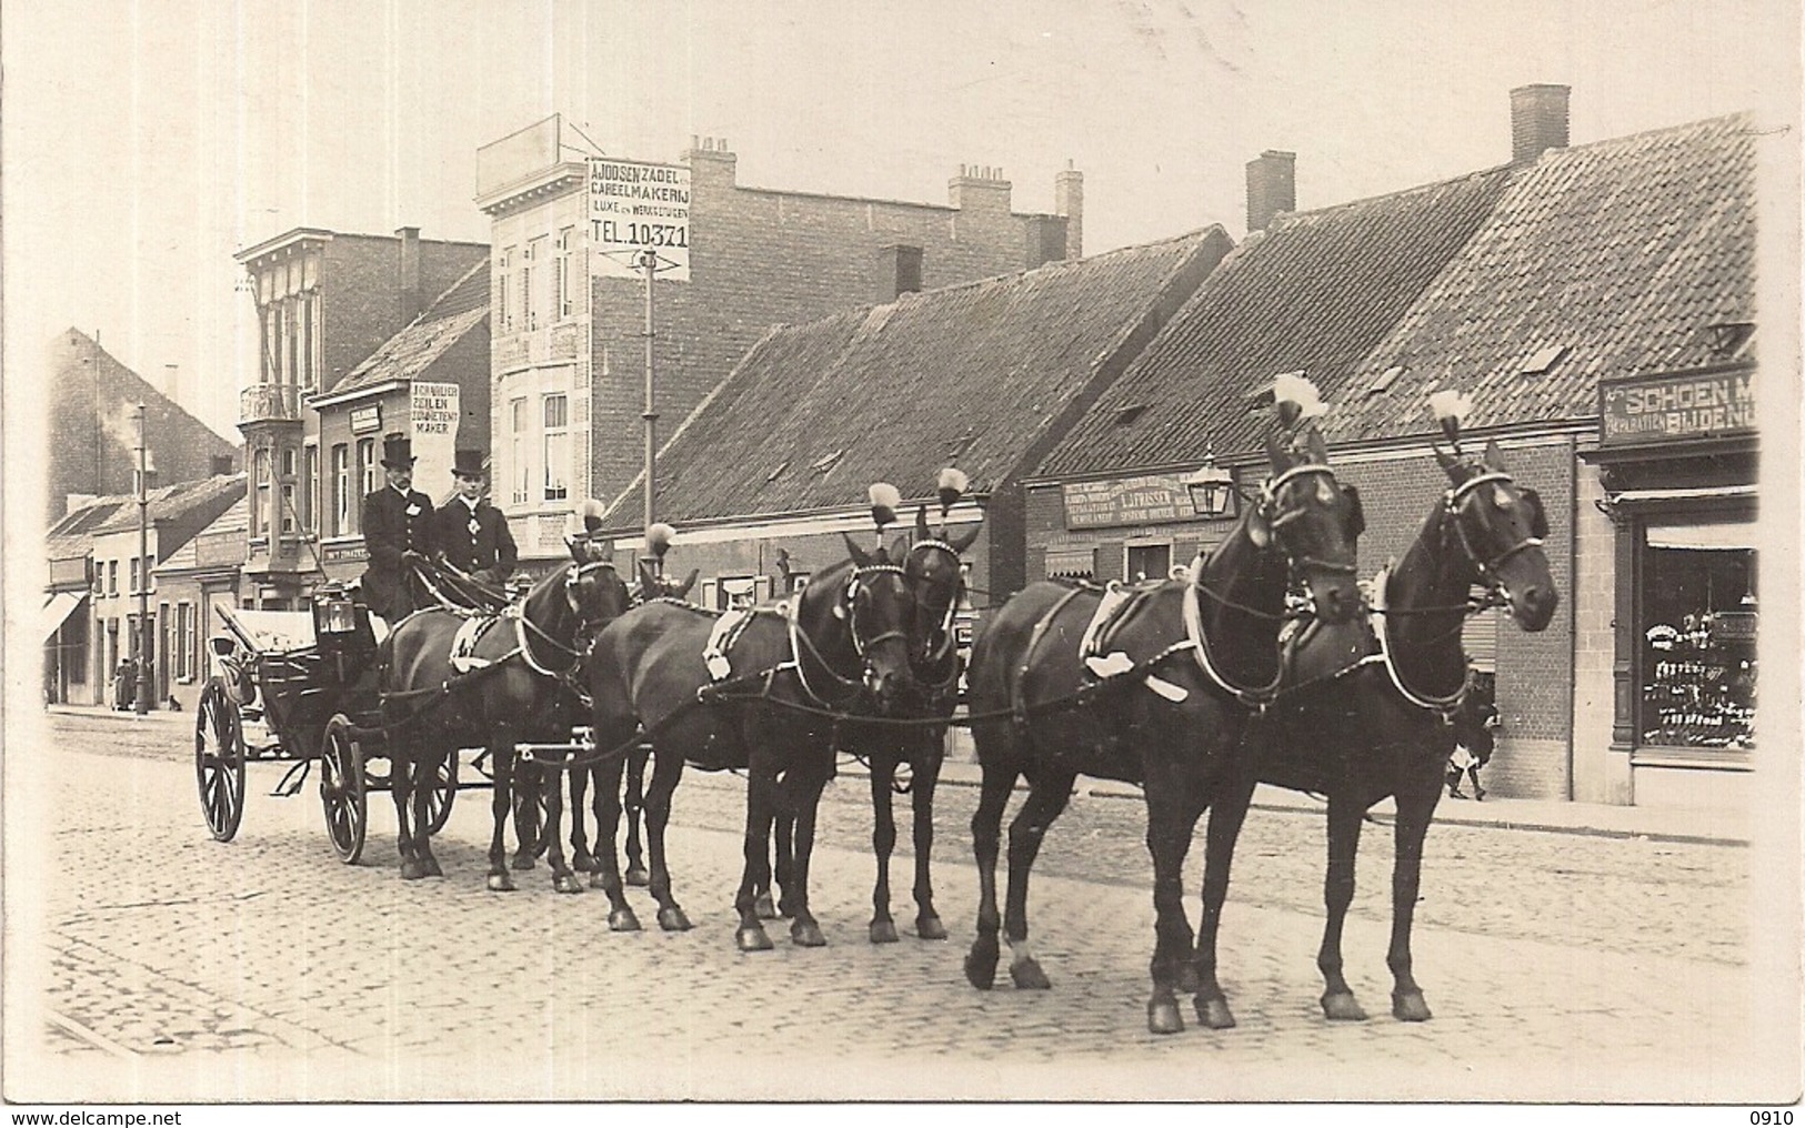
M 771 886 L 771 828 L 782 810 L 794 818 L 791 940 L 827 942 L 809 911 L 809 861 L 821 789 L 834 776 L 834 751 L 847 722 L 886 713 L 910 684 L 912 597 L 902 569 L 883 549 L 861 550 L 818 572 L 801 592 L 724 621 L 720 614 L 653 601 L 596 637 L 588 661 L 597 747 L 630 749 L 641 731 L 652 744 L 646 789 L 650 890 L 659 928 L 690 928 L 671 893 L 664 852 L 671 792 L 684 763 L 702 771 L 745 769 L 745 866 L 735 895 L 740 951 L 765 951 L 760 888 Z M 899 541 L 901 549 L 901 541 Z M 597 763 L 599 886 L 608 895 L 608 928 L 634 931 L 614 839 L 621 814 L 621 756 Z

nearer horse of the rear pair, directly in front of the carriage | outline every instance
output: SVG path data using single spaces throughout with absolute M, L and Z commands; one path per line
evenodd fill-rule
M 426 608 L 397 623 L 383 643 L 383 717 L 393 763 L 401 875 L 408 881 L 442 875 L 431 852 L 428 792 L 446 758 L 471 733 L 486 733 L 495 774 L 487 884 L 496 892 L 514 888 L 502 841 L 514 805 L 514 745 L 570 740 L 581 655 L 588 639 L 628 603 L 614 563 L 599 559 L 585 540 L 567 538 L 567 543 L 570 563 L 543 576 L 500 615 Z M 551 843 L 552 888 L 581 892 L 556 841 L 560 789 L 547 787 L 545 798 L 547 828 L 538 837 Z M 531 864 L 527 834 L 516 834 Z

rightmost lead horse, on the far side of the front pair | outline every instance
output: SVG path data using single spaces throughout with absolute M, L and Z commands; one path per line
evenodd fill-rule
M 1215 940 L 1235 839 L 1260 781 L 1328 800 L 1328 920 L 1316 966 L 1332 1022 L 1366 1018 L 1341 975 L 1341 926 L 1354 899 L 1361 819 L 1379 800 L 1395 800 L 1392 1012 L 1402 1022 L 1430 1018 L 1412 975 L 1410 926 L 1422 841 L 1453 753 L 1449 720 L 1467 684 L 1460 626 L 1473 610 L 1502 605 L 1522 630 L 1540 632 L 1560 603 L 1541 549 L 1549 531 L 1541 498 L 1516 485 L 1498 444 L 1478 460 L 1435 453 L 1448 489 L 1397 567 L 1379 572 L 1372 615 L 1298 639 L 1280 698 L 1247 729 L 1236 785 L 1209 812 L 1197 1011 L 1215 1029 L 1235 1025 L 1217 984 Z M 1486 596 L 1469 603 L 1475 585 Z

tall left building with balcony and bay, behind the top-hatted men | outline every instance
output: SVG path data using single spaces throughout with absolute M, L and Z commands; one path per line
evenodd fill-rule
M 312 399 L 330 395 L 487 251 L 422 240 L 417 227 L 393 236 L 294 227 L 235 254 L 258 314 L 258 374 L 238 399 L 249 473 L 244 567 L 255 606 L 305 606 L 323 576 L 330 448 L 321 448 L 319 413 L 307 410 Z M 383 430 L 408 426 L 392 413 Z M 379 480 L 381 439 L 354 449 L 350 476 L 365 491 Z

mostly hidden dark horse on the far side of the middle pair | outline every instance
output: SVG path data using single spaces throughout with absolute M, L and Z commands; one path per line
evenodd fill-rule
M 942 478 L 944 480 L 944 478 Z M 942 485 L 942 489 L 946 489 Z M 942 493 L 940 516 L 951 507 Z M 957 500 L 957 493 L 955 498 Z M 902 552 L 902 576 L 915 606 L 915 624 L 910 630 L 910 673 L 912 684 L 901 693 L 893 709 L 895 718 L 912 724 L 859 724 L 845 726 L 841 749 L 852 753 L 870 767 L 872 783 L 872 852 L 877 857 L 877 881 L 872 886 L 872 944 L 897 942 L 897 926 L 890 917 L 890 852 L 895 848 L 897 827 L 892 812 L 892 794 L 895 794 L 895 772 L 902 763 L 910 765 L 908 796 L 913 814 L 915 843 L 915 935 L 922 940 L 944 940 L 946 924 L 933 908 L 933 881 L 930 879 L 930 854 L 933 852 L 933 792 L 940 780 L 940 763 L 946 758 L 946 727 L 958 707 L 958 639 L 953 630 L 953 615 L 966 592 L 960 554 L 978 538 L 982 525 L 973 525 L 958 536 L 946 536 L 928 529 L 928 509 L 922 505 L 915 513 L 913 540 Z M 888 720 L 888 718 L 886 718 Z M 924 724 L 939 720 L 940 724 Z M 785 843 L 789 836 L 780 821 L 778 827 L 778 884 L 787 888 L 789 859 Z

